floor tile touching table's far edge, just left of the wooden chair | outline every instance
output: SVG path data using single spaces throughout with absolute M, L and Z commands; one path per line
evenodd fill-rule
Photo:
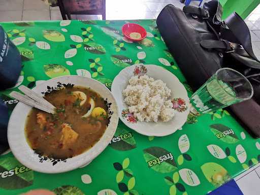
M 22 20 L 50 20 L 50 10 L 24 10 Z

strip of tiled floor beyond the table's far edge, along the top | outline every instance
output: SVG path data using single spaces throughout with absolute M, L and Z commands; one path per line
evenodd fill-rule
M 156 18 L 167 4 L 182 8 L 179 0 L 107 0 L 108 20 Z M 192 2 L 192 5 L 198 5 Z M 102 16 L 73 16 L 74 19 L 102 19 Z M 0 21 L 61 20 L 59 8 L 49 7 L 41 0 L 0 0 Z

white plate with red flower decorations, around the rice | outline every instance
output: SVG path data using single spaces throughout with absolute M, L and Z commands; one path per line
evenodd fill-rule
M 155 80 L 162 80 L 171 89 L 173 109 L 177 112 L 170 121 L 141 122 L 128 112 L 127 105 L 123 101 L 122 90 L 126 88 L 131 77 L 143 74 L 147 74 Z M 115 97 L 121 121 L 140 134 L 157 137 L 168 136 L 181 128 L 187 120 L 189 98 L 185 87 L 174 74 L 159 66 L 135 64 L 123 69 L 113 80 L 111 92 Z

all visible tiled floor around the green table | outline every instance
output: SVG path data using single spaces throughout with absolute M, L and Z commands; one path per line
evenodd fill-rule
M 184 6 L 179 0 L 107 0 L 106 15 L 108 20 L 152 19 L 156 18 L 167 4 L 173 4 L 179 8 Z M 198 5 L 198 2 L 192 2 L 192 5 Z M 74 19 L 102 19 L 102 16 L 75 15 L 72 17 Z M 0 21 L 2 22 L 61 19 L 58 7 L 49 7 L 40 0 L 0 0 Z M 260 59 L 260 6 L 245 21 L 250 29 L 254 53 Z M 260 194 L 260 165 L 249 169 L 235 180 L 244 195 Z

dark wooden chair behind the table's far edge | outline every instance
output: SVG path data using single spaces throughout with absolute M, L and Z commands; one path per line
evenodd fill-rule
M 106 19 L 106 0 L 58 0 L 63 20 L 71 20 L 71 14 L 102 15 Z

